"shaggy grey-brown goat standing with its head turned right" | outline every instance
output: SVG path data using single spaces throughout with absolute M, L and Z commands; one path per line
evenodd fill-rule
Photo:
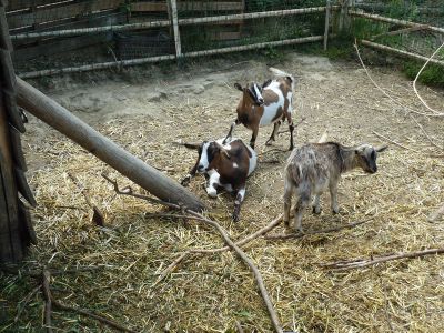
M 341 174 L 355 168 L 366 173 L 377 171 L 376 157 L 387 147 L 373 148 L 370 144 L 344 147 L 336 142 L 309 143 L 293 150 L 284 172 L 284 223 L 290 224 L 290 206 L 293 193 L 295 228 L 302 232 L 302 214 L 312 194 L 313 212 L 321 213 L 320 195 L 330 189 L 333 213 L 339 213 L 337 183 Z

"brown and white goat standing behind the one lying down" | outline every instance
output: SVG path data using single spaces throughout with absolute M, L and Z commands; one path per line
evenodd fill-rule
M 293 120 L 292 100 L 294 90 L 294 78 L 279 69 L 270 68 L 279 79 L 266 80 L 262 85 L 252 83 L 250 87 L 242 88 L 234 83 L 234 87 L 242 91 L 242 98 L 238 104 L 238 118 L 230 127 L 226 138 L 232 135 L 235 125 L 242 123 L 245 128 L 253 131 L 250 145 L 254 149 L 260 127 L 274 124 L 273 132 L 265 144 L 275 141 L 279 128 L 285 119 L 290 128 L 290 150 L 293 150 Z

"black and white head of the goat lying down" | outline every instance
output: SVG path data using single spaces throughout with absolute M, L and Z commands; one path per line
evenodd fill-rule
M 199 157 L 196 171 L 200 173 L 213 169 L 222 158 L 230 159 L 230 153 L 226 148 L 218 141 L 203 141 L 201 144 L 185 143 L 185 147 L 198 150 Z

